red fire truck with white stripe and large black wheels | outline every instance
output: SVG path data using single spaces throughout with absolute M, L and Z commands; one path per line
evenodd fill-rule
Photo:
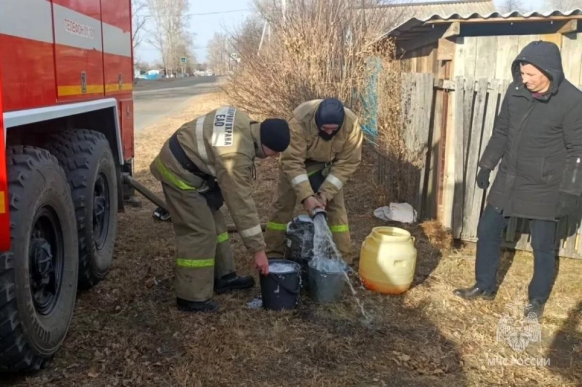
M 133 166 L 130 0 L 0 1 L 0 371 L 62 345 Z M 3 153 L 2 153 L 3 152 Z

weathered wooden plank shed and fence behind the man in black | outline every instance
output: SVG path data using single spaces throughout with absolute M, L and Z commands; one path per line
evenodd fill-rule
M 414 112 L 414 127 L 405 130 L 424 142 L 417 210 L 475 241 L 486 195 L 475 185 L 477 162 L 513 80 L 511 64 L 529 42 L 554 42 L 566 79 L 582 88 L 582 10 L 413 17 L 384 37 L 395 41 L 405 71 L 403 101 L 415 105 L 403 109 Z M 560 223 L 560 231 L 560 255 L 582 257 L 580 216 Z M 527 221 L 510 221 L 505 240 L 530 250 Z

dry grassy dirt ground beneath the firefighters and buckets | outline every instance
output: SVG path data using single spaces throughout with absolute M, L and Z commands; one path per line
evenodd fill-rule
M 221 103 L 221 95 L 194 98 L 182 114 L 136 138 L 136 175 L 160 192 L 148 170 L 181 123 Z M 353 246 L 375 225 L 381 202 L 372 185 L 369 150 L 346 187 Z M 275 162 L 258 163 L 254 199 L 267 220 Z M 473 250 L 442 249 L 434 223 L 404 227 L 417 238 L 413 287 L 384 296 L 357 284 L 373 320 L 366 324 L 346 291 L 342 302 L 318 306 L 302 298 L 293 311 L 249 309 L 260 288 L 217 296 L 222 311 L 189 315 L 175 309 L 171 224 L 151 218 L 154 206 L 121 214 L 115 260 L 107 279 L 80 293 L 68 338 L 49 366 L 34 375 L 0 381 L 12 386 L 574 386 L 582 383 L 582 261 L 562 259 L 541 324 L 541 339 L 511 325 L 529 343 L 514 351 L 496 338 L 512 302 L 526 301 L 531 256 L 506 255 L 494 302 L 452 295 L 471 285 Z M 402 227 L 400 225 L 400 227 Z M 230 241 L 239 273 L 258 275 L 237 234 Z M 501 281 L 501 278 L 500 278 Z M 354 282 L 357 283 L 357 282 Z M 526 326 L 527 328 L 527 326 Z M 512 363 L 512 359 L 513 363 Z M 548 364 L 549 361 L 549 364 Z

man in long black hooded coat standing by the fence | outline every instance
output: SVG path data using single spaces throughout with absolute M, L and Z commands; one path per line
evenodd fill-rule
M 487 189 L 499 171 L 477 228 L 476 283 L 456 289 L 464 299 L 495 298 L 501 236 L 509 217 L 530 220 L 534 275 L 524 314 L 544 313 L 556 256 L 559 218 L 572 214 L 582 192 L 582 91 L 567 81 L 558 46 L 528 44 L 512 64 L 513 83 L 487 148 L 477 186 Z

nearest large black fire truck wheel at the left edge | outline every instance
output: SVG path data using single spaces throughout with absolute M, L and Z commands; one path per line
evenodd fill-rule
M 0 371 L 31 371 L 58 351 L 73 316 L 74 207 L 65 172 L 47 150 L 9 147 L 6 160 L 12 250 L 0 253 Z

